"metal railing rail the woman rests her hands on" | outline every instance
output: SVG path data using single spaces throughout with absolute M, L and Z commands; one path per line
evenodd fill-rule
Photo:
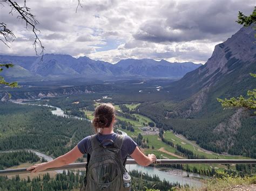
M 127 159 L 126 165 L 135 165 L 136 161 L 133 159 Z M 256 164 L 256 160 L 237 160 L 237 159 L 160 159 L 153 164 L 159 165 L 174 165 L 174 164 Z M 73 163 L 57 168 L 48 168 L 44 172 L 57 171 L 64 169 L 77 169 L 85 168 L 86 162 Z M 5 169 L 0 171 L 0 176 L 14 175 L 14 174 L 27 174 L 30 171 L 26 171 L 26 168 L 17 169 Z

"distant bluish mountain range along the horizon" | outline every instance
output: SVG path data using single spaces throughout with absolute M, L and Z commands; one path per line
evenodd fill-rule
M 168 62 L 151 59 L 127 59 L 111 64 L 100 60 L 92 60 L 86 56 L 73 58 L 70 55 L 45 54 L 43 60 L 35 56 L 6 56 L 0 55 L 0 62 L 12 62 L 17 67 L 9 69 L 12 74 L 6 77 L 28 77 L 38 75 L 44 77 L 63 78 L 100 78 L 106 77 L 182 77 L 187 72 L 201 65 L 193 62 Z M 23 69 L 27 70 L 24 73 Z M 21 69 L 19 71 L 19 69 Z M 13 71 L 12 71 L 13 70 Z M 5 75 L 5 73 L 3 73 Z

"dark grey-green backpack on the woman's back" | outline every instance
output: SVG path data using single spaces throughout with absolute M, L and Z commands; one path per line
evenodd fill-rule
M 80 190 L 127 189 L 123 187 L 123 174 L 126 171 L 121 154 L 123 138 L 124 136 L 117 135 L 114 142 L 111 139 L 105 139 L 99 143 L 96 135 L 90 137 L 92 146 L 87 151 L 86 176 Z M 111 142 L 112 145 L 104 146 L 107 142 Z

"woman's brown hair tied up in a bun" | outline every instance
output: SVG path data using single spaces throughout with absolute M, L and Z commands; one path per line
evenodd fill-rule
M 102 103 L 97 106 L 94 113 L 92 124 L 95 127 L 95 132 L 98 133 L 100 128 L 109 128 L 115 117 L 116 110 L 111 103 Z

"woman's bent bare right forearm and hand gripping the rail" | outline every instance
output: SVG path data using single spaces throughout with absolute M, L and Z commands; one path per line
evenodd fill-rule
M 142 166 L 149 166 L 152 162 L 156 161 L 157 158 L 154 154 L 149 154 L 147 157 L 142 151 L 139 150 L 139 147 L 137 146 L 133 153 L 131 154 L 131 157 Z

